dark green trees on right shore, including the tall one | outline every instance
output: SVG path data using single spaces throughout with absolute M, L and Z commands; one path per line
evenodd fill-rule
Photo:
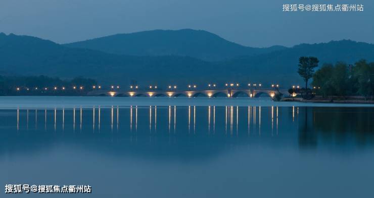
M 309 92 L 329 96 L 373 96 L 374 95 L 374 62 L 360 60 L 354 65 L 343 62 L 323 64 L 317 71 L 318 59 L 300 57 L 298 73 L 305 81 L 304 95 Z M 308 88 L 308 80 L 312 78 L 312 89 Z

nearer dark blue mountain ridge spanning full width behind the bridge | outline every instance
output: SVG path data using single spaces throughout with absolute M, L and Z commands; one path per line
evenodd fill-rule
M 360 59 L 374 61 L 374 45 L 351 40 L 300 44 L 256 56 L 207 62 L 185 56 L 127 56 L 66 47 L 31 36 L 0 33 L 0 75 L 91 77 L 103 84 L 167 85 L 207 82 L 262 82 L 289 86 L 302 83 L 297 74 L 300 56 L 316 56 L 323 63 Z

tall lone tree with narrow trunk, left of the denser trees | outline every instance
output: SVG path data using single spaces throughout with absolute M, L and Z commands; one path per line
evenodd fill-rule
M 308 80 L 313 77 L 314 68 L 318 66 L 316 57 L 300 57 L 298 73 L 305 81 L 305 89 L 308 88 Z

